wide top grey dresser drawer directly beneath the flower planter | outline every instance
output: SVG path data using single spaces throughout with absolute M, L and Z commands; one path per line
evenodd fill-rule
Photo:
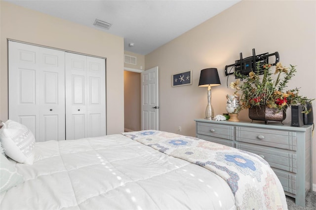
M 236 127 L 236 140 L 296 151 L 296 132 Z

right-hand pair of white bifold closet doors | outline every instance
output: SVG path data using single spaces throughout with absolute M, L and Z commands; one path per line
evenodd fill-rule
M 66 139 L 106 135 L 105 59 L 66 52 Z

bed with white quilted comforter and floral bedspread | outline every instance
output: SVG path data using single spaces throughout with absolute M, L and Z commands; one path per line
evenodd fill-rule
M 18 176 L 1 210 L 287 209 L 266 161 L 221 144 L 154 130 L 30 142 L 33 162 L 1 155 L 1 182 L 4 161 Z

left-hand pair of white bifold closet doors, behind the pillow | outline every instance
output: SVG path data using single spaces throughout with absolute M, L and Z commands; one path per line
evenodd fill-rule
M 8 42 L 9 119 L 36 141 L 65 140 L 65 52 Z

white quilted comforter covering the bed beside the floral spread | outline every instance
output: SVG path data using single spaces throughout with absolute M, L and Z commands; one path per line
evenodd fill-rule
M 16 164 L 25 182 L 0 194 L 1 210 L 237 209 L 220 176 L 123 135 L 35 149 L 32 166 Z

